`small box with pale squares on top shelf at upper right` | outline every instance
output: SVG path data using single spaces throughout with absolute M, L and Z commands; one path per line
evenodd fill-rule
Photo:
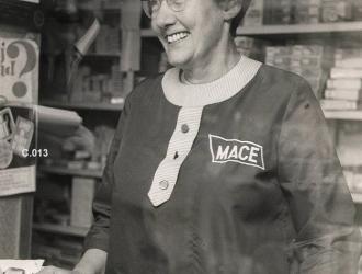
M 319 23 L 320 0 L 296 1 L 294 7 L 294 23 L 317 24 Z

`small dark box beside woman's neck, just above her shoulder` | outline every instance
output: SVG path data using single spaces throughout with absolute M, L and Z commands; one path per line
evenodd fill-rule
M 265 43 L 263 41 L 247 37 L 247 36 L 237 36 L 235 37 L 235 44 L 237 50 L 247 57 L 262 61 L 264 58 L 264 47 Z

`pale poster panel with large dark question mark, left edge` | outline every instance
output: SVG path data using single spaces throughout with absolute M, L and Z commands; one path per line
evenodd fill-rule
M 0 37 L 0 96 L 34 103 L 37 98 L 38 45 L 26 38 Z

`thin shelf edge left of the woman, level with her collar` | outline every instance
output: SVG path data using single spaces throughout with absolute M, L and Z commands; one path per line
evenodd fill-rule
M 42 101 L 42 105 L 60 107 L 60 109 L 78 109 L 78 110 L 98 110 L 98 111 L 122 111 L 124 100 L 122 103 L 68 103 L 68 102 L 55 102 L 55 101 Z

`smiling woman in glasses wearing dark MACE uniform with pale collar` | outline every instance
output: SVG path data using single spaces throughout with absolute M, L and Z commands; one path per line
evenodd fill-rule
M 176 68 L 126 100 L 75 271 L 357 273 L 354 207 L 309 85 L 233 43 L 249 1 L 143 4 Z

